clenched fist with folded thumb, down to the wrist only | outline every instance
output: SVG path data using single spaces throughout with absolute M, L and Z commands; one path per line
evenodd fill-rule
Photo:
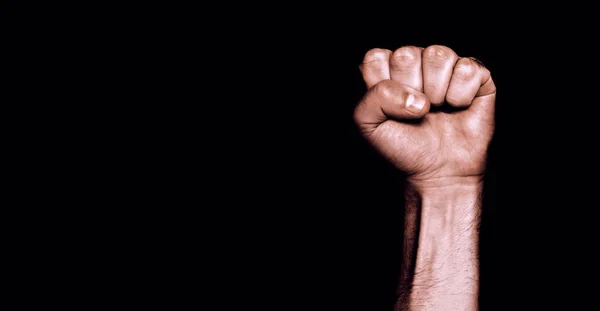
M 410 180 L 483 174 L 496 87 L 479 61 L 439 45 L 373 49 L 361 72 L 369 89 L 355 121 Z

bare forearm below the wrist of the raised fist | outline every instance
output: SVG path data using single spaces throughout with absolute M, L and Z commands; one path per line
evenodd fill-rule
M 404 308 L 477 310 L 481 179 L 415 182 L 406 191 L 420 219 L 410 291 L 400 297 Z

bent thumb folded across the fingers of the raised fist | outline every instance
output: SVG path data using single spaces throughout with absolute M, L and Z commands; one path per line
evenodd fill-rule
M 371 87 L 354 110 L 354 121 L 363 129 L 375 129 L 388 119 L 419 119 L 429 112 L 425 94 L 392 80 Z

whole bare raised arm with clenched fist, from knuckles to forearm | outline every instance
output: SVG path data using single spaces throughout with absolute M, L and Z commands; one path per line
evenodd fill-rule
M 479 223 L 496 87 L 445 46 L 367 52 L 362 134 L 407 176 L 395 310 L 477 310 Z

